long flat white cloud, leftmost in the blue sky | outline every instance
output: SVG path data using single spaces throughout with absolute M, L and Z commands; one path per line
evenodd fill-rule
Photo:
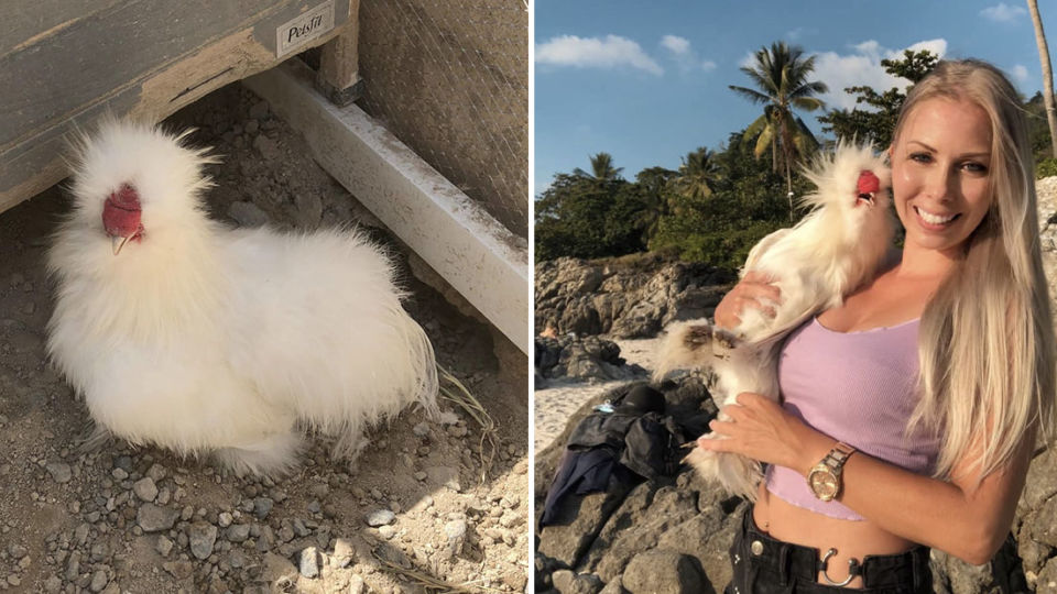
M 638 43 L 619 35 L 578 37 L 562 35 L 536 45 L 536 63 L 578 68 L 632 67 L 661 76 L 664 68 L 653 61 Z

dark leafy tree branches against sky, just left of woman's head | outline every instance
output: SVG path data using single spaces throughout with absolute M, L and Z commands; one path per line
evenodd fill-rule
M 903 52 L 901 59 L 882 59 L 881 66 L 890 75 L 917 82 L 925 77 L 939 62 L 939 57 L 927 50 Z M 872 142 L 878 148 L 892 144 L 892 132 L 895 121 L 903 109 L 906 92 L 892 87 L 884 92 L 878 92 L 870 87 L 849 87 L 844 89 L 856 95 L 856 103 L 864 105 L 867 109 L 852 110 L 835 109 L 826 116 L 820 116 L 822 131 L 829 132 L 838 139 L 857 139 L 860 142 Z

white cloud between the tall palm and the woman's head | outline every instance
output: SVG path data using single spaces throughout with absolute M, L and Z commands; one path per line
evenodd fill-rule
M 946 40 L 928 40 L 906 47 L 915 52 L 928 50 L 944 57 L 947 53 Z M 889 50 L 870 40 L 852 46 L 851 54 L 824 52 L 815 55 L 814 80 L 822 80 L 829 91 L 820 97 L 828 109 L 853 109 L 854 97 L 844 92 L 847 87 L 872 87 L 884 92 L 892 87 L 906 88 L 909 81 L 884 72 L 881 61 L 903 57 L 903 50 Z

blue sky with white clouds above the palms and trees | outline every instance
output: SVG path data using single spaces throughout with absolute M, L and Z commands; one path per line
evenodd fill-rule
M 1057 64 L 1057 2 L 1038 4 Z M 1042 89 L 1023 0 L 536 0 L 534 11 L 536 195 L 598 152 L 633 179 L 718 147 L 762 113 L 727 86 L 750 86 L 739 67 L 774 41 L 818 55 L 827 106 L 853 105 L 844 87 L 895 86 L 880 62 L 911 47 L 987 59 L 1024 95 Z

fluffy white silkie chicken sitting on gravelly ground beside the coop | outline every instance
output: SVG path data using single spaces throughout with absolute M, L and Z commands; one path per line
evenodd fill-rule
M 215 160 L 186 134 L 110 121 L 76 147 L 47 346 L 97 427 L 277 475 L 306 429 L 352 459 L 367 426 L 412 403 L 435 414 L 433 346 L 382 251 L 210 220 Z

